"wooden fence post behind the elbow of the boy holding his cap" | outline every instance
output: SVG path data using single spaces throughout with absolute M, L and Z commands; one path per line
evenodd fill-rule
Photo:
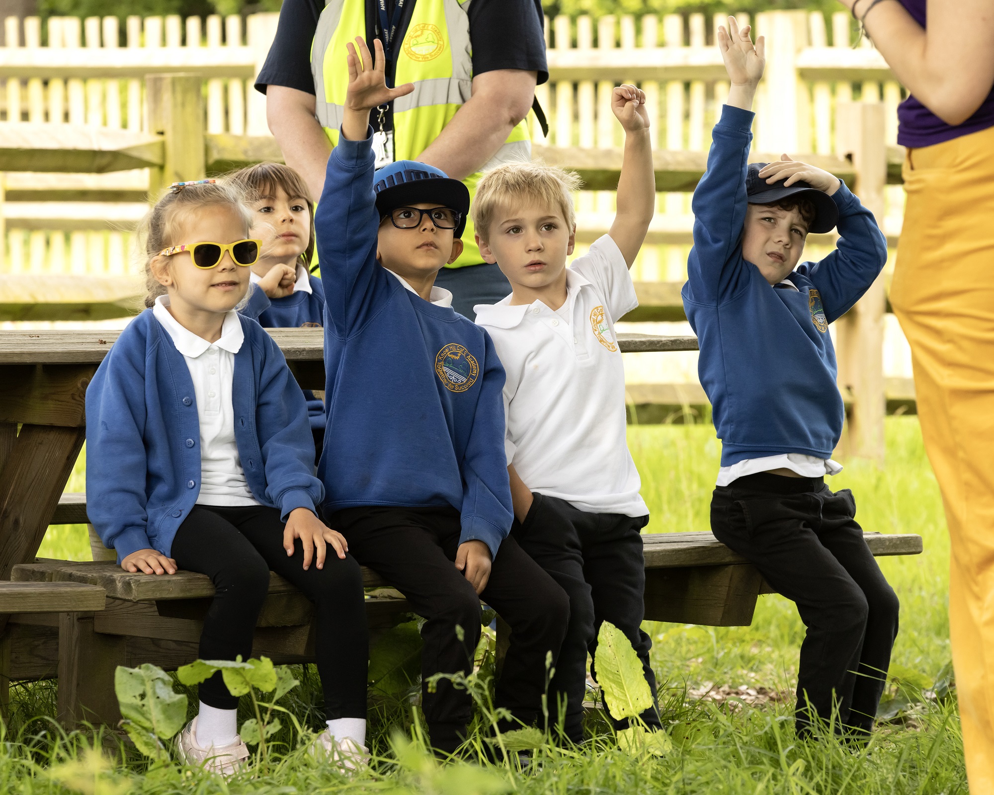
M 852 158 L 856 193 L 863 205 L 884 221 L 887 144 L 884 105 L 848 102 L 836 108 L 836 150 Z M 884 274 L 849 312 L 836 321 L 839 389 L 849 403 L 844 454 L 884 462 Z

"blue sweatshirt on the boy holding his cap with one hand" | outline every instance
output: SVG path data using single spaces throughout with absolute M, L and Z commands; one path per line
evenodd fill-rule
M 694 191 L 694 247 L 683 288 L 722 466 L 780 453 L 831 457 L 844 409 L 828 324 L 859 300 L 887 261 L 873 214 L 845 185 L 832 195 L 838 247 L 788 275 L 798 291 L 772 287 L 745 261 L 752 115 L 725 105 L 715 125 L 708 170 Z

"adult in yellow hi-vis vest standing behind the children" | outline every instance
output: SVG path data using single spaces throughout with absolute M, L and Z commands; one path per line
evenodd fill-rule
M 541 0 L 284 0 L 279 28 L 255 87 L 266 92 L 269 129 L 287 165 L 320 196 L 337 143 L 348 75 L 345 45 L 379 38 L 392 84 L 414 92 L 373 114 L 381 164 L 420 160 L 474 192 L 479 172 L 531 157 L 526 116 L 548 79 Z M 510 292 L 483 262 L 473 231 L 436 284 L 456 311 Z

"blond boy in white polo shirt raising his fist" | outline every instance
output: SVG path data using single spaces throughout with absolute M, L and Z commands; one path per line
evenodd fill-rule
M 608 234 L 570 267 L 576 175 L 535 163 L 500 166 L 480 180 L 470 210 L 483 258 L 496 262 L 513 288 L 493 306 L 476 306 L 476 322 L 490 333 L 507 372 L 511 533 L 570 596 L 549 703 L 555 710 L 565 701 L 565 734 L 578 743 L 586 654 L 602 621 L 632 642 L 655 694 L 651 640 L 640 629 L 640 531 L 649 512 L 625 441 L 614 321 L 638 304 L 628 268 L 656 193 L 645 94 L 621 85 L 611 109 L 625 130 L 617 215 Z M 655 708 L 642 719 L 659 726 Z

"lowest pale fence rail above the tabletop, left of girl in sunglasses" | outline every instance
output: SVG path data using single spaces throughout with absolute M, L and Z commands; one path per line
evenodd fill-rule
M 0 273 L 0 321 L 127 317 L 141 311 L 144 297 L 144 285 L 123 276 Z

